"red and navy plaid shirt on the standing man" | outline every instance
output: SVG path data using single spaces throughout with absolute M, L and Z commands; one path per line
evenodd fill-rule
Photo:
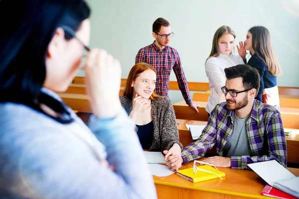
M 155 44 L 155 41 L 153 41 L 149 46 L 140 49 L 136 55 L 135 63 L 137 64 L 141 62 L 150 64 L 156 70 L 157 82 L 154 92 L 159 96 L 165 96 L 167 98 L 169 76 L 173 68 L 179 90 L 182 92 L 184 100 L 188 105 L 192 104 L 188 83 L 185 78 L 180 58 L 178 52 L 174 48 L 166 46 L 160 51 L 160 48 Z

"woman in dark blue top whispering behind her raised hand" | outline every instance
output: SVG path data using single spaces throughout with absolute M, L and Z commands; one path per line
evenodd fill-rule
M 240 48 L 238 48 L 239 53 L 243 55 L 247 54 L 246 50 L 249 50 L 252 55 L 248 65 L 256 68 L 261 76 L 260 90 L 256 100 L 279 109 L 277 76 L 282 74 L 282 69 L 275 56 L 269 30 L 264 26 L 250 28 L 244 45 L 240 43 Z

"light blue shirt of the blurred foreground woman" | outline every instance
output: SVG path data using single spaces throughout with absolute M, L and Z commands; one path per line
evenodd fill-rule
M 43 89 L 47 95 L 61 99 Z M 68 108 L 62 124 L 23 104 L 0 103 L 1 199 L 155 199 L 152 176 L 125 111 L 92 116 L 90 129 Z M 100 161 L 115 168 L 113 172 Z

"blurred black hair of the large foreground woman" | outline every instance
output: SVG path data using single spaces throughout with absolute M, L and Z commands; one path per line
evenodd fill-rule
M 0 102 L 32 105 L 46 77 L 48 44 L 62 25 L 78 30 L 89 17 L 84 0 L 0 0 Z M 65 39 L 72 36 L 65 33 Z

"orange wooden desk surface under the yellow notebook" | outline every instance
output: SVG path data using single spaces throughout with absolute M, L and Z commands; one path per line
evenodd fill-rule
M 181 169 L 187 169 L 193 166 L 193 162 L 183 165 Z M 183 193 L 188 193 L 187 190 L 202 191 L 205 194 L 218 193 L 223 195 L 232 195 L 238 197 L 256 198 L 256 199 L 270 199 L 261 195 L 266 182 L 260 178 L 255 172 L 249 170 L 236 170 L 230 168 L 218 168 L 226 174 L 226 177 L 221 181 L 220 179 L 213 179 L 199 183 L 192 183 L 176 174 L 167 177 L 153 176 L 156 187 L 163 186 L 163 189 L 179 188 L 184 189 Z M 295 176 L 299 176 L 299 169 L 288 168 Z M 157 190 L 158 198 L 165 193 L 170 193 L 169 190 Z M 200 192 L 201 193 L 201 192 Z

